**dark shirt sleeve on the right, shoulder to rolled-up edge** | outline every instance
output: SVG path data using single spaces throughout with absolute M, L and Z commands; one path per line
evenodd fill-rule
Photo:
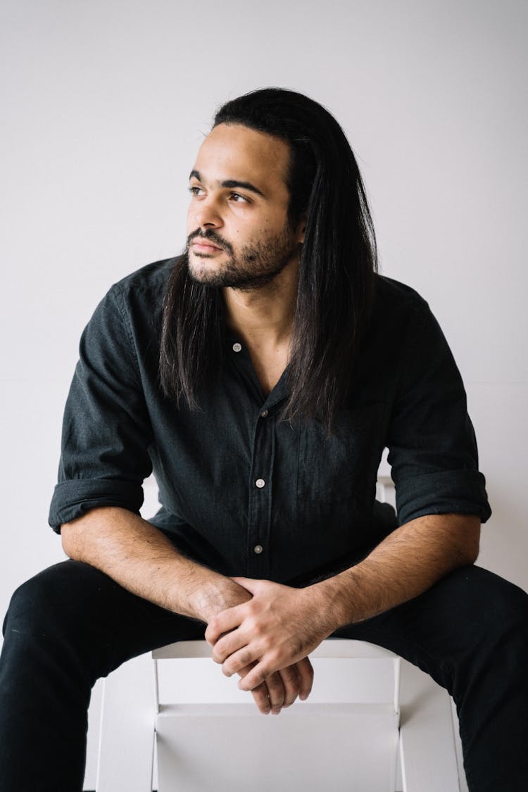
M 408 325 L 390 421 L 400 524 L 427 514 L 491 514 L 462 378 L 427 303 Z

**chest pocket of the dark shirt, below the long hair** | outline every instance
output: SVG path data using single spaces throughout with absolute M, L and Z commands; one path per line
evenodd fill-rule
M 298 499 L 334 505 L 374 501 L 385 415 L 384 402 L 341 409 L 331 436 L 319 421 L 307 422 L 298 446 Z

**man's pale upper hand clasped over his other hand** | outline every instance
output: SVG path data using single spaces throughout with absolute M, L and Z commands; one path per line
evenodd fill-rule
M 238 683 L 241 690 L 253 691 L 275 672 L 294 665 L 302 677 L 313 673 L 307 655 L 334 630 L 328 604 L 317 600 L 311 588 L 245 577 L 234 581 L 253 599 L 215 615 L 205 633 L 213 660 L 222 663 L 226 676 L 253 665 Z

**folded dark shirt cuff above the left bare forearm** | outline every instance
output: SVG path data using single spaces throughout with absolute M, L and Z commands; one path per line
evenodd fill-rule
M 143 488 L 137 482 L 119 479 L 72 479 L 55 486 L 51 499 L 48 524 L 56 533 L 69 523 L 97 506 L 120 506 L 139 514 L 143 504 Z

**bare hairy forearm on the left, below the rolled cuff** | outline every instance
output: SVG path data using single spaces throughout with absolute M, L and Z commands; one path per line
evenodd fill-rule
M 169 539 L 124 508 L 94 508 L 61 527 L 66 555 L 101 569 L 127 591 L 208 623 L 249 600 L 232 581 L 185 558 Z

